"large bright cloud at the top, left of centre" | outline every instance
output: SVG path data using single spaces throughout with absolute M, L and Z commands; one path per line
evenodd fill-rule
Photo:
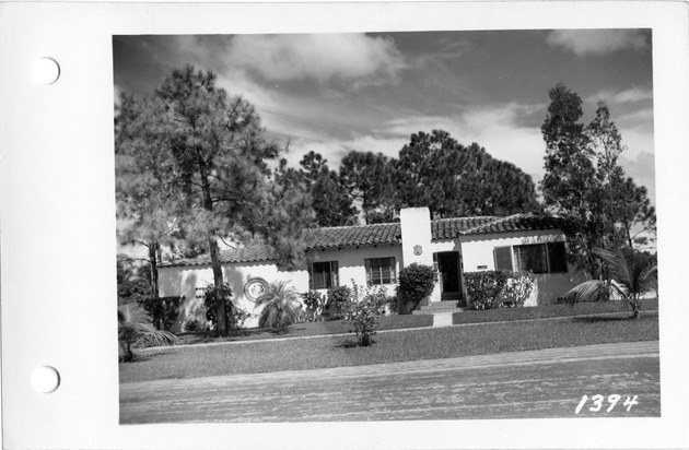
M 375 82 L 406 67 L 395 43 L 364 34 L 240 35 L 226 61 L 272 81 L 332 79 Z

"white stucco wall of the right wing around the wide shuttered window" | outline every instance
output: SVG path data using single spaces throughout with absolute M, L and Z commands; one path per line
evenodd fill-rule
M 564 241 L 562 233 L 551 230 L 522 232 L 513 234 L 480 235 L 465 237 L 462 242 L 465 272 L 495 270 L 493 249 L 495 247 L 521 246 Z M 484 267 L 486 269 L 481 269 Z M 550 305 L 572 287 L 587 280 L 583 271 L 569 264 L 567 273 L 535 274 L 536 286 L 524 306 Z

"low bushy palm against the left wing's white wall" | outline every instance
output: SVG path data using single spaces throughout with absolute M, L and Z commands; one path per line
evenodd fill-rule
M 256 306 L 262 307 L 258 318 L 260 328 L 283 328 L 300 321 L 303 315 L 300 294 L 285 281 L 270 283 L 256 299 Z

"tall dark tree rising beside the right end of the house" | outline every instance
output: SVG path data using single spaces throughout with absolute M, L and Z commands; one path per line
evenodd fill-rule
M 616 250 L 631 242 L 631 226 L 655 222 L 645 188 L 627 179 L 618 164 L 622 138 L 605 102 L 584 126 L 582 99 L 562 84 L 548 92 L 550 105 L 541 126 L 546 142 L 544 203 L 570 218 L 565 229 L 580 265 L 594 279 L 606 277 L 594 249 Z M 623 233 L 620 233 L 620 229 Z

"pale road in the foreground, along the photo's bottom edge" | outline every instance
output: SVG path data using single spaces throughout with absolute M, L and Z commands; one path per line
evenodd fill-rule
M 120 384 L 120 423 L 659 416 L 658 342 Z M 622 405 L 637 395 L 630 411 Z

